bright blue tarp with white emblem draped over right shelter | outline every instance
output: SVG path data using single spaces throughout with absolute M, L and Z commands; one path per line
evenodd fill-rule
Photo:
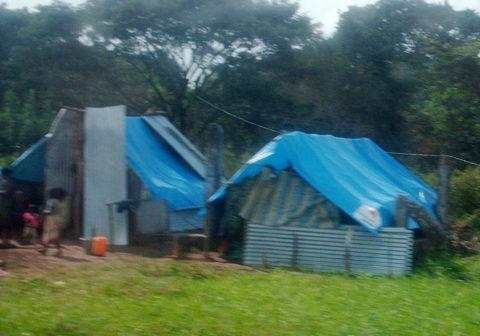
M 263 147 L 229 182 L 255 176 L 265 166 L 292 168 L 372 232 L 393 225 L 397 195 L 407 196 L 436 218 L 437 193 L 369 139 L 288 133 Z M 215 203 L 225 192 L 219 189 L 208 202 Z M 408 227 L 416 229 L 418 224 L 410 219 Z

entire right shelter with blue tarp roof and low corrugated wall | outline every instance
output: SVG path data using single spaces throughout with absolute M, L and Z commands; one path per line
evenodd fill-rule
M 410 274 L 418 225 L 396 227 L 398 195 L 429 212 L 437 199 L 368 139 L 292 132 L 208 200 L 210 235 L 246 265 Z

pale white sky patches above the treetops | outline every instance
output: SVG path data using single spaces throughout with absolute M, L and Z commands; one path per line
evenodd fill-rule
M 443 3 L 445 0 L 427 0 L 430 3 Z M 16 9 L 28 7 L 35 8 L 37 5 L 49 5 L 51 0 L 0 0 L 6 3 L 7 8 Z M 85 0 L 63 0 L 74 6 L 82 4 Z M 310 16 L 314 22 L 322 24 L 322 31 L 325 36 L 331 36 L 335 32 L 339 11 L 346 11 L 349 6 L 365 6 L 375 3 L 376 0 L 298 0 L 300 12 Z M 448 0 L 448 3 L 455 10 L 466 8 L 475 10 L 480 14 L 480 0 Z

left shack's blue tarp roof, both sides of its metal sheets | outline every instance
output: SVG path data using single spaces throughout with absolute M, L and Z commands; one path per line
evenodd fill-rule
M 12 165 L 13 177 L 43 182 L 45 136 Z M 126 156 L 130 167 L 145 182 L 152 199 L 165 199 L 171 209 L 201 207 L 205 183 L 183 158 L 140 117 L 126 120 Z

